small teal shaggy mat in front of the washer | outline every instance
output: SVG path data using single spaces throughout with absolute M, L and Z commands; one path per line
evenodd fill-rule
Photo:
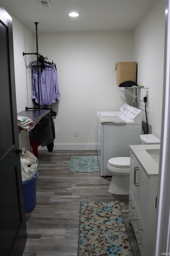
M 92 173 L 99 172 L 97 156 L 71 157 L 70 173 Z

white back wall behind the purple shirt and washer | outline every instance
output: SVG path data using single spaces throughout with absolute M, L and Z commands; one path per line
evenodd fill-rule
M 114 68 L 117 61 L 133 61 L 133 32 L 39 33 L 38 42 L 39 53 L 57 65 L 54 149 L 96 149 L 96 111 L 122 105 Z

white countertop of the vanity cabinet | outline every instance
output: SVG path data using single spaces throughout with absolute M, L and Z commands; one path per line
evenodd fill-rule
M 130 145 L 130 149 L 137 158 L 139 165 L 146 171 L 148 175 L 158 175 L 159 164 L 146 151 L 160 150 L 160 145 Z M 159 156 L 157 157 L 159 158 Z

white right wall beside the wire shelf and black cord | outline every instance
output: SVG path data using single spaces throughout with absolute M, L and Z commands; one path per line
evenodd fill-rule
M 147 113 L 149 133 L 160 139 L 162 118 L 163 68 L 164 68 L 165 1 L 159 0 L 134 31 L 134 58 L 138 62 L 138 85 L 141 99 L 148 95 Z M 146 123 L 144 104 L 142 120 Z M 145 124 L 143 124 L 146 128 Z M 146 129 L 145 129 L 146 132 Z

